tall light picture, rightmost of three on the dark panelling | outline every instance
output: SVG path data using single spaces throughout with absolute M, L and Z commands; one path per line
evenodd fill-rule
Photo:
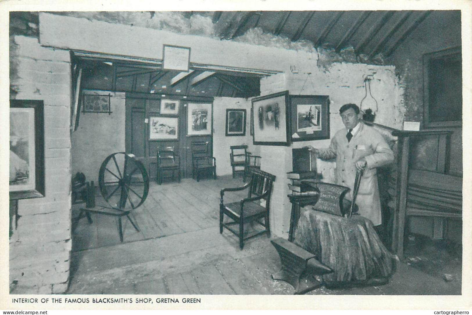
M 211 135 L 213 112 L 211 103 L 189 103 L 187 106 L 187 136 Z

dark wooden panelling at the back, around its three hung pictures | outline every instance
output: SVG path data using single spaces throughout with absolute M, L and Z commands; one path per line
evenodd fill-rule
M 209 141 L 213 147 L 213 131 L 210 135 L 188 136 L 187 109 L 189 103 L 210 103 L 213 108 L 213 99 L 204 97 L 188 97 L 167 95 L 165 99 L 179 101 L 178 116 L 162 115 L 178 119 L 176 140 L 150 140 L 149 119 L 160 115 L 160 101 L 162 95 L 126 93 L 126 127 L 125 148 L 126 153 L 135 154 L 136 158 L 143 162 L 151 179 L 156 179 L 157 174 L 157 148 L 158 146 L 174 146 L 180 155 L 180 174 L 182 178 L 192 177 L 192 141 Z M 211 126 L 213 122 L 211 121 Z M 211 127 L 212 128 L 212 127 Z M 213 152 L 211 152 L 212 154 Z

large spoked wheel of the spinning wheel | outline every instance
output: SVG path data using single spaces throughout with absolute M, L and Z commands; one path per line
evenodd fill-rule
M 112 208 L 130 211 L 146 200 L 149 178 L 142 162 L 133 154 L 110 154 L 101 163 L 98 183 L 105 201 Z

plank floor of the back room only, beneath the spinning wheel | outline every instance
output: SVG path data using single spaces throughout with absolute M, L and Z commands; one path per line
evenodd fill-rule
M 136 231 L 126 217 L 122 219 L 124 242 L 160 238 L 218 226 L 220 189 L 243 184 L 240 178 L 233 179 L 231 176 L 217 180 L 202 179 L 200 182 L 182 179 L 180 183 L 169 182 L 162 185 L 152 181 L 146 201 L 132 212 L 132 218 L 140 231 Z M 225 194 L 225 202 L 240 200 L 244 196 L 245 192 L 228 192 Z M 107 206 L 100 194 L 96 196 L 96 205 Z M 84 204 L 73 205 L 73 218 L 78 216 L 81 206 Z M 117 218 L 93 213 L 91 216 L 92 224 L 85 218 L 76 223 L 72 238 L 73 251 L 120 243 Z

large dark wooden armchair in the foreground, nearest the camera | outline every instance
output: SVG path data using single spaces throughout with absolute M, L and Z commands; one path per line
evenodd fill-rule
M 244 240 L 254 238 L 261 234 L 267 234 L 270 237 L 269 209 L 270 195 L 275 176 L 262 170 L 251 169 L 251 180 L 242 187 L 223 188 L 220 191 L 219 203 L 219 233 L 223 233 L 223 228 L 228 229 L 239 237 L 239 247 L 243 249 Z M 247 198 L 239 202 L 225 204 L 223 197 L 225 191 L 238 191 L 248 188 Z M 232 221 L 223 222 L 224 215 L 227 215 Z M 264 219 L 262 223 L 260 220 Z M 253 235 L 244 237 L 244 223 L 256 222 L 263 226 L 265 230 L 256 232 Z M 237 224 L 239 231 L 230 228 Z

